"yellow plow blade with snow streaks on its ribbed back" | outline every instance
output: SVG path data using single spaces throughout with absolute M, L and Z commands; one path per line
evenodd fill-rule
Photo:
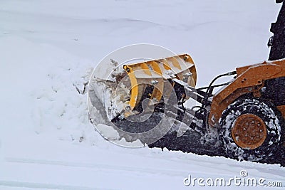
M 162 95 L 168 95 L 171 92 L 170 85 L 165 85 L 165 83 L 170 83 L 172 78 L 182 80 L 193 88 L 197 80 L 195 64 L 191 56 L 187 54 L 132 63 L 124 65 L 123 68 L 130 78 L 131 90 L 128 102 L 130 111 L 135 109 L 135 106 L 142 100 L 147 86 L 153 86 L 149 95 L 152 103 L 156 104 L 162 100 Z M 128 115 L 125 116 L 128 117 Z

